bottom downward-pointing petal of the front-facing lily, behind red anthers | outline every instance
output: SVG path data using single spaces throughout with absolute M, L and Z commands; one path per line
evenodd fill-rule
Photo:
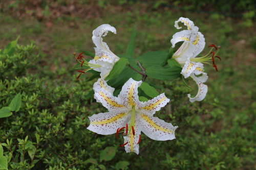
M 139 154 L 139 136 L 141 133 L 141 130 L 138 128 L 137 123 L 135 123 L 134 126 L 135 135 L 131 132 L 128 136 L 123 136 L 124 143 L 128 142 L 124 145 L 126 153 L 129 152 L 135 152 L 136 154 Z

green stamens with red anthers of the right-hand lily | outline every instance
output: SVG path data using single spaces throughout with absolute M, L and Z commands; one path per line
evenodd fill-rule
M 210 63 L 208 63 L 208 61 L 212 61 L 212 64 L 210 64 L 210 65 L 215 67 L 216 71 L 218 71 L 217 65 L 215 64 L 215 58 L 217 57 L 221 60 L 221 58 L 217 56 L 221 47 L 220 46 L 216 47 L 214 44 L 209 45 L 209 46 L 211 46 L 211 49 L 207 55 L 205 55 L 203 57 L 190 58 L 190 61 L 201 62 L 201 63 L 206 63 L 206 64 L 210 64 Z M 212 51 L 214 48 L 217 51 L 216 53 Z

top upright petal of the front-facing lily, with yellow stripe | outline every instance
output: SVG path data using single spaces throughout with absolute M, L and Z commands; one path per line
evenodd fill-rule
M 142 81 L 135 81 L 130 78 L 122 87 L 118 99 L 121 100 L 121 103 L 127 107 L 132 108 L 135 106 L 135 109 L 139 109 L 142 106 L 142 102 L 139 101 L 138 96 L 138 87 L 141 85 Z

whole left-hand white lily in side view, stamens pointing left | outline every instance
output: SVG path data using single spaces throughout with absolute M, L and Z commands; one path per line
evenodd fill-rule
M 92 40 L 93 40 L 94 44 L 96 45 L 96 47 L 94 47 L 95 57 L 93 60 L 90 60 L 89 62 L 87 62 L 84 59 L 82 60 L 82 56 L 81 56 L 82 53 L 79 54 L 79 56 L 77 58 L 77 59 L 81 60 L 81 66 L 84 64 L 86 66 L 89 66 L 90 69 L 99 71 L 100 77 L 102 79 L 106 78 L 109 75 L 114 64 L 120 59 L 113 52 L 110 51 L 108 44 L 103 42 L 102 36 L 106 36 L 109 31 L 116 34 L 116 29 L 114 27 L 111 27 L 109 24 L 103 24 L 93 31 Z M 79 72 L 81 72 L 81 74 L 83 74 L 90 69 L 86 69 L 86 70 L 79 71 Z M 78 76 L 78 78 L 79 78 L 79 76 Z

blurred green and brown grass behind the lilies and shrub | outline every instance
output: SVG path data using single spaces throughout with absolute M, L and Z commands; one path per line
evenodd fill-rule
M 91 6 L 95 7 L 95 4 Z M 42 74 L 39 77 L 48 76 L 53 81 L 59 79 L 59 83 L 69 82 L 71 78 L 65 75 L 76 64 L 73 52 L 94 52 L 91 36 L 99 25 L 109 23 L 117 29 L 116 35 L 109 33 L 104 39 L 115 54 L 125 53 L 133 26 L 136 25 L 138 57 L 149 51 L 168 50 L 172 35 L 178 32 L 174 27 L 175 20 L 181 16 L 188 17 L 204 34 L 206 46 L 222 46 L 219 53 L 222 61 L 217 61 L 218 72 L 205 65 L 209 76 L 206 82 L 208 93 L 203 102 L 194 104 L 203 106 L 204 113 L 186 118 L 189 127 L 187 131 L 179 125 L 176 142 L 180 143 L 180 148 L 173 150 L 187 150 L 187 155 L 178 156 L 191 159 L 195 159 L 195 150 L 202 150 L 201 161 L 212 161 L 211 167 L 202 169 L 255 169 L 255 23 L 251 27 L 245 27 L 243 18 L 168 8 L 152 9 L 150 5 L 142 3 L 96 6 L 102 11 L 99 16 L 92 18 L 86 18 L 86 14 L 82 17 L 64 15 L 59 19 L 48 17 L 40 21 L 36 17 L 17 18 L 12 13 L 0 13 L 0 48 L 5 48 L 18 35 L 19 44 L 25 45 L 33 41 L 38 47 L 36 51 L 43 54 L 43 57 L 38 59 L 30 72 Z M 203 54 L 207 52 L 206 47 Z M 76 74 L 74 71 L 74 75 Z M 193 81 L 188 83 L 193 84 Z M 181 136 L 185 138 L 179 138 Z M 182 142 L 187 141 L 187 138 L 191 140 L 191 148 L 182 148 Z M 162 164 L 174 164 L 168 153 L 163 157 L 166 160 L 159 160 Z M 143 161 L 143 158 L 138 159 Z M 145 169 L 150 169 L 150 163 L 144 163 Z M 178 163 L 181 164 L 180 167 L 186 164 Z

